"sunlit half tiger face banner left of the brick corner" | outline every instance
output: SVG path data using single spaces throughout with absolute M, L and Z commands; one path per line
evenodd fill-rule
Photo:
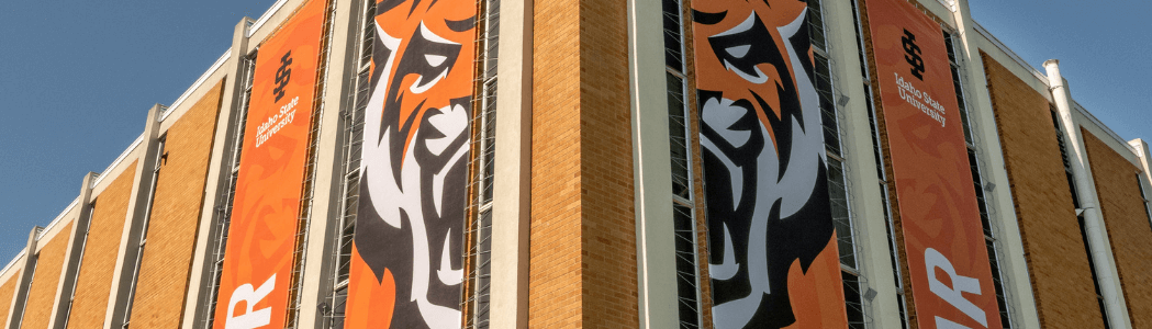
M 377 5 L 344 328 L 460 328 L 476 1 Z

